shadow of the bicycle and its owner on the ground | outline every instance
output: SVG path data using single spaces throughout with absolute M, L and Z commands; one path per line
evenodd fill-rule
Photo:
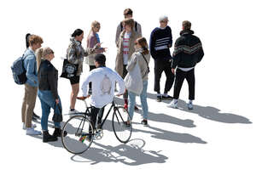
M 143 145 L 134 143 L 137 140 L 143 142 Z M 120 162 L 127 166 L 139 166 L 148 163 L 165 163 L 168 159 L 165 155 L 161 155 L 160 151 L 143 150 L 145 141 L 141 138 L 132 139 L 127 144 L 118 146 L 106 146 L 96 142 L 94 144 L 100 148 L 90 148 L 82 155 L 73 155 L 71 160 L 90 162 L 90 165 L 100 162 Z

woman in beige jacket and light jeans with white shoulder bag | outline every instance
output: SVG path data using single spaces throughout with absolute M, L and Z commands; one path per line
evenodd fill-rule
M 134 48 L 136 49 L 135 53 L 131 55 L 131 59 L 128 62 L 128 65 L 126 66 L 126 70 L 128 72 L 133 71 L 135 66 L 138 64 L 140 71 L 141 71 L 141 76 L 137 76 L 137 78 L 141 78 L 143 82 L 143 90 L 140 94 L 141 103 L 143 106 L 143 121 L 142 124 L 144 126 L 148 126 L 148 103 L 147 103 L 147 88 L 148 88 L 148 72 L 149 72 L 149 59 L 150 59 L 150 54 L 148 51 L 148 43 L 145 37 L 139 37 L 137 38 L 135 42 Z M 131 79 L 131 81 L 136 81 Z M 131 83 L 132 84 L 132 83 Z M 136 93 L 131 92 L 128 89 L 128 97 L 129 97 L 129 104 L 128 104 L 128 112 L 129 115 L 132 116 L 134 113 L 134 106 L 135 106 L 135 97 Z M 131 121 L 126 121 L 125 124 L 129 127 Z

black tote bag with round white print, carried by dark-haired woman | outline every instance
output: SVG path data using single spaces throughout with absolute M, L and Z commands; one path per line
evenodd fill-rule
M 70 79 L 77 76 L 79 65 L 70 63 L 67 59 L 63 60 L 61 77 Z

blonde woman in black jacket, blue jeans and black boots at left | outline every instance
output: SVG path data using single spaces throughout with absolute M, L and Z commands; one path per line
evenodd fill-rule
M 55 55 L 51 48 L 39 48 L 37 50 L 37 59 L 41 60 L 38 63 L 38 98 L 42 107 L 41 127 L 44 143 L 56 141 L 57 137 L 61 137 L 60 122 L 54 122 L 55 131 L 53 135 L 50 135 L 48 132 L 50 108 L 55 110 L 55 114 L 61 115 L 61 99 L 58 95 L 58 71 L 50 63 L 54 58 Z

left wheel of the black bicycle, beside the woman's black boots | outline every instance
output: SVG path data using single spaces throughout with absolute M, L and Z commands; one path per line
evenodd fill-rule
M 64 137 L 64 131 L 67 136 Z M 73 154 L 82 154 L 90 148 L 94 131 L 90 121 L 84 115 L 73 116 L 64 125 L 61 141 L 64 148 Z

